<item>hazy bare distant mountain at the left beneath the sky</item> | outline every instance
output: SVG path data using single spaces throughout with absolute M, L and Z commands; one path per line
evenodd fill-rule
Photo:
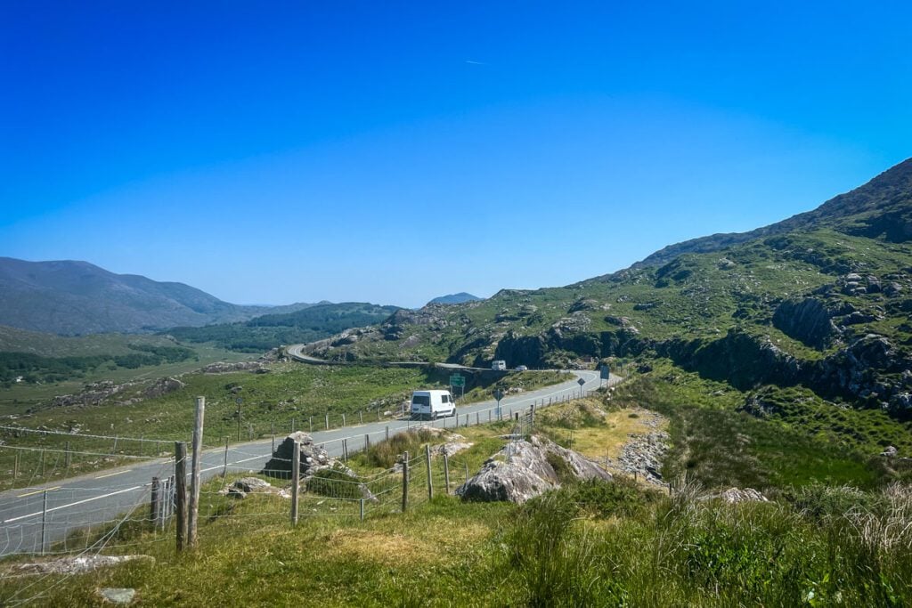
M 273 309 L 223 302 L 183 283 L 115 274 L 87 262 L 0 257 L 0 325 L 61 335 L 142 332 L 241 321 Z

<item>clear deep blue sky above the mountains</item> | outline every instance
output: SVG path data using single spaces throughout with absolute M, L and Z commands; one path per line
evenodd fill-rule
M 4 2 L 0 255 L 236 303 L 554 286 L 912 156 L 893 2 Z

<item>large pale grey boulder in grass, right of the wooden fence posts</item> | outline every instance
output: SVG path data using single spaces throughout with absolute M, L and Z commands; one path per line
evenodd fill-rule
M 549 489 L 559 488 L 561 479 L 567 475 L 576 479 L 612 479 L 610 473 L 579 453 L 533 436 L 528 441 L 508 444 L 456 493 L 463 500 L 523 503 Z

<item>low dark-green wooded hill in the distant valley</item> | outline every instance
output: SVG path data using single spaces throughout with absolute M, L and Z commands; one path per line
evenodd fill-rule
M 397 306 L 347 302 L 316 304 L 287 314 L 264 314 L 244 323 L 174 327 L 168 334 L 186 342 L 212 342 L 242 352 L 263 352 L 278 345 L 314 342 L 350 327 L 371 325 L 395 313 Z

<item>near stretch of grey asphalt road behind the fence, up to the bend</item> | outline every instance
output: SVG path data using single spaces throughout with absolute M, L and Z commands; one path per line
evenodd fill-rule
M 581 391 L 594 390 L 600 384 L 597 372 L 575 371 L 572 374 L 571 381 L 504 397 L 501 401 L 503 417 L 533 404 L 536 407 L 546 406 L 565 397 L 578 397 Z M 578 379 L 584 381 L 583 386 L 578 384 Z M 619 380 L 619 377 L 611 376 L 609 383 L 615 384 Z M 325 446 L 330 456 L 341 456 L 343 438 L 347 438 L 350 452 L 357 451 L 364 447 L 368 435 L 370 441 L 376 443 L 386 438 L 388 433 L 394 435 L 415 426 L 431 424 L 452 428 L 457 421 L 459 426 L 465 426 L 476 424 L 476 420 L 483 424 L 489 419 L 489 411 L 492 417 L 496 417 L 495 407 L 495 402 L 486 401 L 458 407 L 456 418 L 440 418 L 430 423 L 407 419 L 385 420 L 317 431 L 312 437 L 315 443 Z M 271 449 L 272 439 L 231 446 L 227 452 L 228 469 L 234 472 L 262 469 L 271 455 Z M 201 461 L 202 478 L 212 478 L 223 470 L 225 451 L 223 448 L 205 450 Z M 152 477 L 168 477 L 173 469 L 173 460 L 138 459 L 135 464 L 119 469 L 0 493 L 0 556 L 40 553 L 42 530 L 44 546 L 49 550 L 51 543 L 63 540 L 72 531 L 118 520 L 133 507 L 148 504 Z

